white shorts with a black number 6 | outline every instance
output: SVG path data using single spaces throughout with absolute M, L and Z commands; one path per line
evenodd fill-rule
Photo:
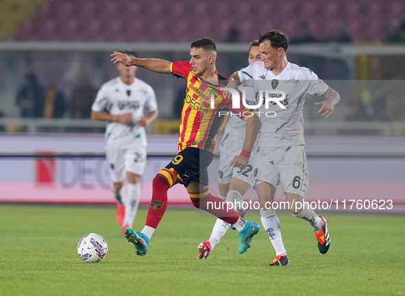
M 281 184 L 284 193 L 306 196 L 309 176 L 304 145 L 260 148 L 254 152 L 253 163 L 255 186 L 269 183 L 277 188 Z

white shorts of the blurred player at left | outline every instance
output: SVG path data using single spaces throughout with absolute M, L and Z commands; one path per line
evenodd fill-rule
M 125 180 L 127 172 L 141 176 L 145 170 L 146 154 L 146 146 L 107 149 L 106 157 L 111 181 L 119 183 Z

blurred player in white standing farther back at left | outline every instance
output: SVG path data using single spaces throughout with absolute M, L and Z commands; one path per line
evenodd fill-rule
M 131 51 L 125 52 L 136 57 Z M 106 157 L 117 202 L 116 221 L 131 228 L 140 199 L 140 176 L 145 170 L 147 140 L 145 127 L 158 116 L 158 105 L 150 85 L 135 77 L 136 66 L 116 64 L 119 77 L 101 86 L 93 103 L 91 118 L 108 121 Z M 147 115 L 144 117 L 144 110 Z M 127 198 L 124 181 L 127 178 Z

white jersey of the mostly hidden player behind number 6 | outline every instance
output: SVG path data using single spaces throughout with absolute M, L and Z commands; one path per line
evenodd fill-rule
M 247 104 L 256 104 L 256 100 L 254 100 L 254 89 L 252 87 L 242 84 L 239 86 L 239 90 L 245 90 Z M 219 150 L 230 155 L 241 154 L 243 144 L 245 143 L 245 131 L 246 120 L 238 118 L 238 116 L 234 114 L 232 114 L 232 116 L 228 115 L 228 122 L 225 126 L 225 131 L 223 131 L 223 137 Z

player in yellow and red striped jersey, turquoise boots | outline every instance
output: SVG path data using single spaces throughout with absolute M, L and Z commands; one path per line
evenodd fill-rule
M 234 224 L 241 234 L 239 254 L 247 250 L 251 238 L 259 231 L 258 224 L 246 221 L 233 210 L 223 208 L 223 200 L 212 196 L 208 189 L 207 167 L 214 157 L 215 135 L 221 131 L 225 121 L 219 112 L 232 109 L 232 100 L 225 99 L 219 90 L 221 86 L 228 84 L 228 81 L 215 67 L 217 59 L 215 43 L 209 38 L 196 40 L 191 44 L 190 55 L 189 62 L 174 63 L 162 59 L 139 59 L 116 51 L 111 55 L 114 63 L 121 62 L 125 66 L 139 66 L 187 79 L 187 92 L 180 124 L 179 153 L 153 180 L 152 200 L 143 230 L 141 232 L 134 232 L 130 228 L 125 230 L 125 237 L 134 243 L 136 254 L 140 256 L 146 254 L 149 240 L 166 211 L 167 191 L 177 183 L 186 187 L 195 207 Z M 210 104 L 211 96 L 214 98 L 213 108 Z M 241 155 L 235 157 L 231 165 L 244 169 L 258 134 L 260 120 L 254 111 L 244 107 L 232 111 L 246 120 L 246 137 Z M 209 204 L 211 208 L 208 207 Z M 212 206 L 213 204 L 219 209 Z

